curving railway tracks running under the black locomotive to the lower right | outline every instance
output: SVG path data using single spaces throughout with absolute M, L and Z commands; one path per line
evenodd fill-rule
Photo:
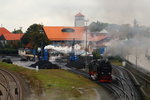
M 86 78 L 90 78 L 90 76 L 85 72 L 78 71 L 75 69 L 69 69 L 69 70 L 76 74 L 83 75 Z M 127 81 L 124 78 L 120 79 L 118 77 L 117 82 L 112 82 L 112 83 L 100 83 L 98 81 L 95 82 L 110 90 L 114 94 L 115 100 L 140 100 L 136 98 L 135 90 L 133 89 L 132 86 L 130 86 L 133 84 L 128 84 L 129 81 Z M 130 95 L 130 93 L 132 94 L 132 96 Z

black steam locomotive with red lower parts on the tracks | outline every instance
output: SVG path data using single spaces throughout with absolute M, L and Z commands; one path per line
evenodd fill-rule
M 89 63 L 89 75 L 92 80 L 112 82 L 112 66 L 106 59 L 97 59 Z

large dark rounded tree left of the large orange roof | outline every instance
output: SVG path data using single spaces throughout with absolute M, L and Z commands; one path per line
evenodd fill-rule
M 24 46 L 30 44 L 32 48 L 40 47 L 41 43 L 43 45 L 49 44 L 49 40 L 43 30 L 43 25 L 33 24 L 29 26 L 25 35 L 22 37 L 22 43 Z

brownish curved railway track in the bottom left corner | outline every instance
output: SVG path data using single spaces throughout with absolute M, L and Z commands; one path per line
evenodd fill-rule
M 21 86 L 16 76 L 0 69 L 0 78 L 0 100 L 22 100 Z

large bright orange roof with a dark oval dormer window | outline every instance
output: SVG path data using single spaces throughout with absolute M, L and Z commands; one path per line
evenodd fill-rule
M 83 34 L 85 33 L 84 27 L 44 26 L 43 28 L 48 39 L 53 41 L 83 40 Z M 64 32 L 65 29 L 71 29 L 74 32 Z

